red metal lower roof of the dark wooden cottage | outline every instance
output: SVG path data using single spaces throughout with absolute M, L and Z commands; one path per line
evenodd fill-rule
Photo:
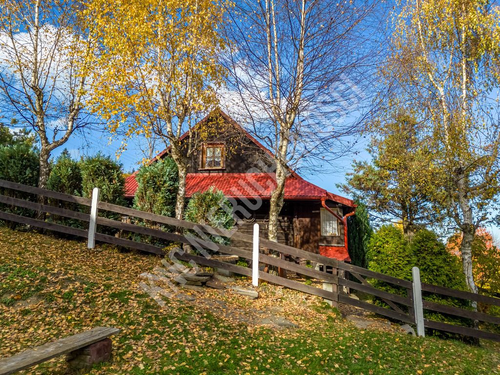
M 276 187 L 274 173 L 188 173 L 186 178 L 186 197 L 195 192 L 208 190 L 211 186 L 232 198 L 268 199 Z M 137 189 L 135 173 L 125 179 L 125 196 L 132 197 Z M 349 207 L 354 206 L 350 199 L 333 194 L 310 183 L 296 174 L 286 178 L 285 199 L 329 199 Z

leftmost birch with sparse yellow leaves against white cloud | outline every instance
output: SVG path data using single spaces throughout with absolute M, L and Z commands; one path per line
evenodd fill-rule
M 0 108 L 39 142 L 38 187 L 51 152 L 85 126 L 93 43 L 73 1 L 5 0 L 0 7 Z

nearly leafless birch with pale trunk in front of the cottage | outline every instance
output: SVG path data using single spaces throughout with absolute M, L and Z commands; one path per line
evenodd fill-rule
M 370 91 L 376 19 L 368 18 L 376 4 L 257 0 L 238 2 L 231 12 L 228 66 L 239 98 L 228 106 L 273 153 L 270 240 L 277 240 L 291 168 L 316 164 L 324 171 L 351 146 L 343 137 L 358 123 L 345 114 L 359 110 Z

